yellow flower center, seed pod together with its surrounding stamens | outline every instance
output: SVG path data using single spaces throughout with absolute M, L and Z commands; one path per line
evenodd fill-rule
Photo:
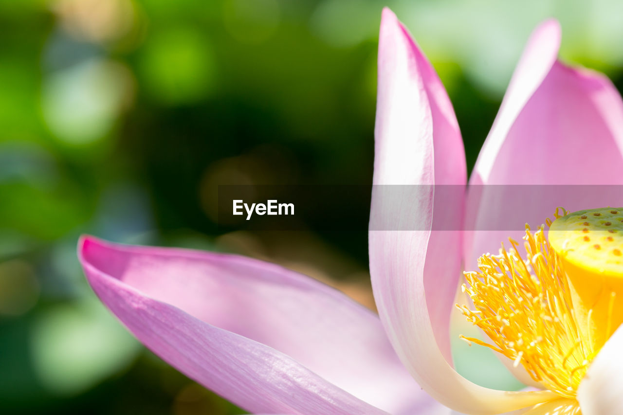
M 623 208 L 568 213 L 465 272 L 473 310 L 457 307 L 480 327 L 492 348 L 523 365 L 545 388 L 574 398 L 594 356 L 623 322 Z

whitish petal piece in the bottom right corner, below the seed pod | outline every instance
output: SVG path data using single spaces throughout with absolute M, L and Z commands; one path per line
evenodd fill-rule
M 599 351 L 578 388 L 583 415 L 618 415 L 623 408 L 623 326 Z

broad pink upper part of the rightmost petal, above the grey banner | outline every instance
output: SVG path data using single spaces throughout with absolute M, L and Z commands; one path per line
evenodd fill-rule
M 623 102 L 614 85 L 597 72 L 555 62 L 490 171 L 475 172 L 485 184 L 621 184 L 622 146 Z

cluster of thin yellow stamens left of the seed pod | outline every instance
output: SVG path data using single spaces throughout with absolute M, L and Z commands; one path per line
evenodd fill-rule
M 474 309 L 457 307 L 493 344 L 462 338 L 502 353 L 545 388 L 574 398 L 596 350 L 591 341 L 582 341 L 586 330 L 574 318 L 564 265 L 545 237 L 545 226 L 533 233 L 526 224 L 523 239 L 526 260 L 518 242 L 509 239 L 510 249 L 502 244 L 499 255 L 478 259 L 478 272 L 465 272 L 462 289 Z

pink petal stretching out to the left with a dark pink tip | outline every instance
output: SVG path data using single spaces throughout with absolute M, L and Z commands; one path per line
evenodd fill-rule
M 139 340 L 249 411 L 379 413 L 373 404 L 404 413 L 431 404 L 378 317 L 315 280 L 235 255 L 92 237 L 80 256 L 95 292 Z

